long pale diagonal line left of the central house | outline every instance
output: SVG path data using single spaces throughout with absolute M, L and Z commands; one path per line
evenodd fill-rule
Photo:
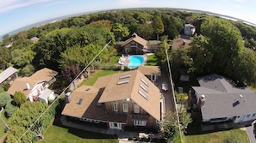
M 64 93 L 66 92 L 66 90 L 72 85 L 73 82 L 75 82 L 75 80 L 78 79 L 78 77 L 79 77 L 81 74 L 84 73 L 84 70 L 86 70 L 86 69 L 91 65 L 91 63 L 105 50 L 105 48 L 106 48 L 110 43 L 111 43 L 111 40 L 109 41 L 108 44 L 104 45 L 103 49 L 97 53 L 97 55 L 96 55 L 96 56 L 91 60 L 91 62 L 88 63 L 87 66 L 76 76 L 76 78 L 75 78 L 74 80 L 72 80 L 72 82 L 71 82 L 68 86 L 66 86 L 66 88 L 59 94 L 59 97 L 60 97 L 62 94 L 64 94 Z M 41 116 L 43 116 L 43 115 L 47 112 L 47 110 L 49 110 L 49 109 L 52 107 L 52 105 L 59 99 L 59 97 L 57 97 L 57 98 L 53 101 L 53 103 L 50 104 L 50 105 L 47 107 L 47 109 L 44 110 L 44 111 L 41 113 Z M 16 140 L 16 142 L 18 142 L 19 140 L 21 140 L 22 137 L 23 137 L 25 134 L 28 133 L 28 130 L 34 126 L 35 122 L 37 122 L 37 121 L 41 118 L 41 116 L 38 116 L 38 118 L 29 126 L 29 128 L 22 134 L 22 136 L 21 136 L 18 140 Z

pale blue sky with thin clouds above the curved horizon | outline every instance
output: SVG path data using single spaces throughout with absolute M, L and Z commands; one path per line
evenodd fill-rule
M 256 24 L 255 6 L 256 0 L 0 0 L 0 36 L 59 16 L 124 8 L 197 9 Z

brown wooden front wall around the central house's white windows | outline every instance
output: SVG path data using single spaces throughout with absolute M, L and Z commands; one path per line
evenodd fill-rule
M 114 103 L 117 104 L 117 111 L 114 111 Z M 123 112 L 123 105 L 122 105 L 123 103 L 128 104 L 128 112 Z M 156 125 L 157 125 L 156 122 L 157 121 L 153 118 L 153 116 L 150 116 L 147 113 L 147 111 L 143 110 L 142 108 L 140 108 L 140 113 L 135 113 L 134 112 L 134 105 L 135 105 L 135 103 L 131 100 L 129 100 L 129 101 L 119 100 L 119 101 L 116 101 L 116 102 L 105 103 L 106 110 L 110 114 L 120 114 L 120 115 L 126 114 L 128 116 L 128 120 L 126 122 L 127 126 L 135 126 L 133 116 L 134 115 L 141 115 L 141 116 L 148 116 L 146 126 L 143 126 L 143 127 L 148 127 L 148 128 L 156 127 Z

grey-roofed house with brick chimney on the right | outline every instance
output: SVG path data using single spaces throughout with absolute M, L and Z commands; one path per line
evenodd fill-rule
M 256 93 L 235 87 L 231 80 L 218 74 L 198 78 L 200 86 L 192 86 L 203 122 L 247 122 L 256 119 Z

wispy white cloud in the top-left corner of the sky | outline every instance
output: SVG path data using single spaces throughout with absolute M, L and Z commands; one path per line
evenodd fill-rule
M 19 9 L 36 3 L 45 3 L 51 0 L 0 0 L 0 13 Z

